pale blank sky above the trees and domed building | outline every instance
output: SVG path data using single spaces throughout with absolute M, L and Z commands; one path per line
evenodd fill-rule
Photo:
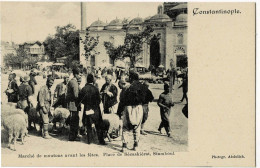
M 87 26 L 96 20 L 145 18 L 162 2 L 85 2 Z M 80 2 L 1 2 L 1 40 L 44 41 L 56 26 L 71 23 L 80 29 Z

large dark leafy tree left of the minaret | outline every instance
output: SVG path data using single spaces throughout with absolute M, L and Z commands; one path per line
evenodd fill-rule
M 55 35 L 49 35 L 44 41 L 44 46 L 52 61 L 64 56 L 79 60 L 79 30 L 72 24 L 57 26 Z

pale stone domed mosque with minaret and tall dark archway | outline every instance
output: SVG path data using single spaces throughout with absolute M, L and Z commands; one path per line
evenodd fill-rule
M 181 10 L 172 11 L 171 8 L 178 9 L 178 5 L 182 6 Z M 167 11 L 164 11 L 167 7 Z M 82 4 L 82 30 L 80 37 L 85 38 L 84 20 L 86 19 Z M 170 13 L 169 17 L 167 13 Z M 99 44 L 96 50 L 100 53 L 96 58 L 86 60 L 84 57 L 84 46 L 80 42 L 80 61 L 83 66 L 99 66 L 104 63 L 111 63 L 111 60 L 106 53 L 104 47 L 105 41 L 112 42 L 115 46 L 122 44 L 126 33 L 138 33 L 147 25 L 151 25 L 154 29 L 154 35 L 160 35 L 160 39 L 156 40 L 154 36 L 151 44 L 143 45 L 141 53 L 142 60 L 138 64 L 148 68 L 150 65 L 158 67 L 163 65 L 166 69 L 170 67 L 170 62 L 173 61 L 175 66 L 178 66 L 178 61 L 181 57 L 187 56 L 187 4 L 186 9 L 183 8 L 183 3 L 164 3 L 158 7 L 157 14 L 152 17 L 140 18 L 136 17 L 130 21 L 114 19 L 110 23 L 105 23 L 101 20 L 93 22 L 89 27 L 90 36 L 99 36 Z M 127 62 L 127 61 L 126 61 Z

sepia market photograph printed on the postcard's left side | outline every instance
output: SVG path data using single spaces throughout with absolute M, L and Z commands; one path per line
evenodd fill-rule
M 1 6 L 2 155 L 189 151 L 187 3 Z

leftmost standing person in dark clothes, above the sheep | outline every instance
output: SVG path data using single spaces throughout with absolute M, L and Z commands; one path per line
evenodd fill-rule
M 15 75 L 11 73 L 8 77 L 9 83 L 5 91 L 8 102 L 17 103 L 18 101 L 18 86 L 15 80 Z

